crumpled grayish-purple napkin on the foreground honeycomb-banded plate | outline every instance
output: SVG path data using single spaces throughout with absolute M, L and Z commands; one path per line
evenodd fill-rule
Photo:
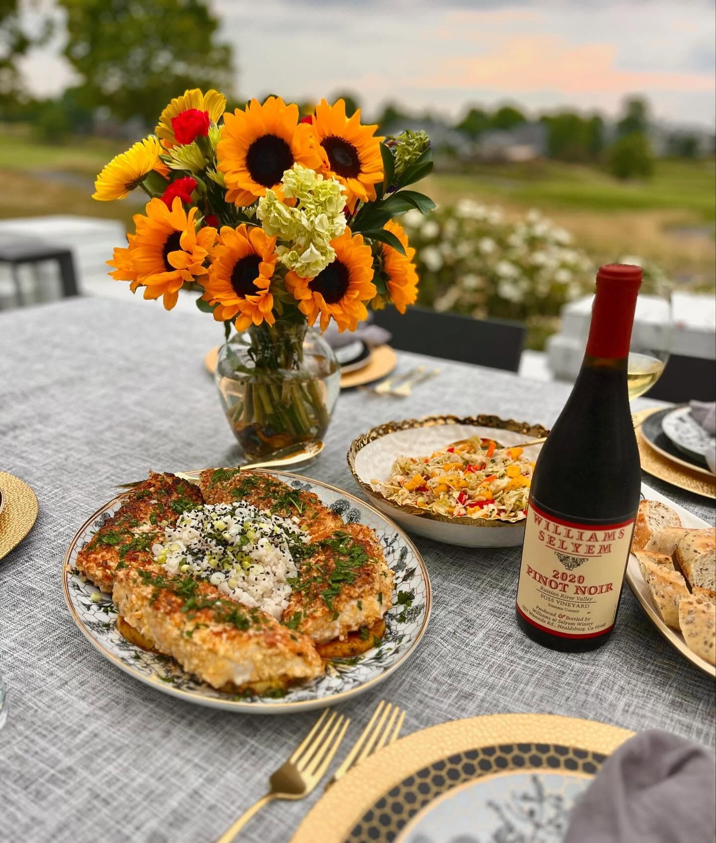
M 713 843 L 716 756 L 641 732 L 604 763 L 572 809 L 564 843 Z

